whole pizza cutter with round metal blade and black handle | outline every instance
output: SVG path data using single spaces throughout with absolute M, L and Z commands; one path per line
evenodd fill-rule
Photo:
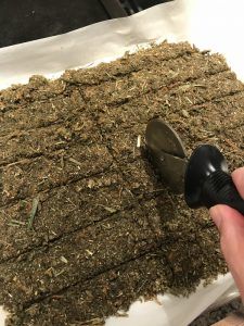
M 244 215 L 244 200 L 228 173 L 221 152 L 210 145 L 197 147 L 188 160 L 183 143 L 160 118 L 149 122 L 145 142 L 153 165 L 176 193 L 184 193 L 192 209 L 227 204 Z

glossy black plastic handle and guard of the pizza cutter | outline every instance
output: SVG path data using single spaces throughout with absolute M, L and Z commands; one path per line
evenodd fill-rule
M 244 215 L 241 198 L 224 156 L 215 147 L 203 145 L 192 153 L 185 171 L 184 198 L 192 209 L 227 204 Z

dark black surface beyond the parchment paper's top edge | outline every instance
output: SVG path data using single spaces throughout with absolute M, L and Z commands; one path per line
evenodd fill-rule
M 0 48 L 123 17 L 168 0 L 0 0 Z

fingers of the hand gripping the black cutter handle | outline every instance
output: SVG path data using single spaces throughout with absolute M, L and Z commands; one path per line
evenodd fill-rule
M 244 199 L 244 167 L 235 170 L 232 178 Z M 209 212 L 220 233 L 221 251 L 244 302 L 244 216 L 222 204 Z

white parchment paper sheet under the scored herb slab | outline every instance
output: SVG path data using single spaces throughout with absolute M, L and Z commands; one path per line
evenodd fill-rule
M 175 0 L 133 16 L 106 21 L 64 35 L 0 49 L 0 89 L 27 83 L 33 74 L 56 77 L 64 70 L 91 66 L 136 51 L 138 45 L 167 39 L 190 41 L 224 54 L 244 80 L 244 2 Z M 136 302 L 129 317 L 110 317 L 106 326 L 184 326 L 213 304 L 237 296 L 230 274 L 197 288 L 190 298 L 158 296 L 162 302 Z M 5 313 L 0 310 L 0 325 Z

